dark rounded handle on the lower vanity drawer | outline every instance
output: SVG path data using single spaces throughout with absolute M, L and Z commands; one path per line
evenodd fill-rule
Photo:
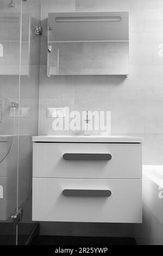
M 63 190 L 65 197 L 110 197 L 110 190 Z

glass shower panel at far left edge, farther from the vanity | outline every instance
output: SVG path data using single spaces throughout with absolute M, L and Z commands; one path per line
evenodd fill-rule
M 0 245 L 16 245 L 21 0 L 0 0 Z

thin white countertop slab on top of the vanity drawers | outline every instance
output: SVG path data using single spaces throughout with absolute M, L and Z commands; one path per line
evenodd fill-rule
M 131 136 L 34 136 L 33 142 L 142 143 L 143 138 Z

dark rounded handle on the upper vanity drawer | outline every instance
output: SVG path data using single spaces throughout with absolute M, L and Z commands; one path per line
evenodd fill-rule
M 73 161 L 109 161 L 112 156 L 110 154 L 83 154 L 83 153 L 65 153 L 63 155 L 64 160 Z

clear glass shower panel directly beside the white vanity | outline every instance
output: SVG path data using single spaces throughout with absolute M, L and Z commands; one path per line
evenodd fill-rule
M 32 222 L 32 136 L 38 135 L 40 36 L 40 0 L 22 2 L 22 43 L 20 82 L 20 137 L 18 169 L 18 245 L 27 244 L 35 230 Z

